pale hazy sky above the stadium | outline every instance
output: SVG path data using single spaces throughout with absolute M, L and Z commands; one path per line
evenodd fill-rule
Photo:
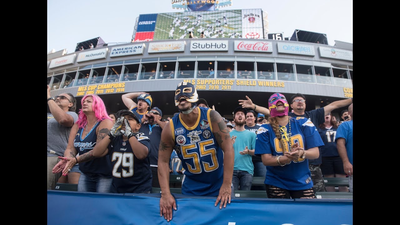
M 353 43 L 352 0 L 232 0 L 220 10 L 259 9 L 268 13 L 270 33 L 291 37 L 294 30 L 326 34 Z M 101 37 L 104 42 L 130 42 L 140 14 L 183 12 L 171 0 L 47 0 L 47 52 L 75 50 L 78 42 Z

